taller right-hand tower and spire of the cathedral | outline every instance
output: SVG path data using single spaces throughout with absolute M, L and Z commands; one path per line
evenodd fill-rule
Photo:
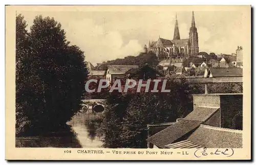
M 189 30 L 189 56 L 198 56 L 198 33 L 195 23 L 194 11 L 192 12 L 191 27 Z

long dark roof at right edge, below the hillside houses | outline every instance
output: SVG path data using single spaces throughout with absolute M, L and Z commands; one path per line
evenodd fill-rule
M 210 68 L 212 77 L 243 76 L 242 68 Z

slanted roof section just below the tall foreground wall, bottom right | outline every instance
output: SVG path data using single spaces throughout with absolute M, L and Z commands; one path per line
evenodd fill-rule
M 184 120 L 193 120 L 193 121 L 201 121 L 205 122 L 212 115 L 214 115 L 219 108 L 210 108 L 210 107 L 195 107 L 194 111 L 189 113 Z

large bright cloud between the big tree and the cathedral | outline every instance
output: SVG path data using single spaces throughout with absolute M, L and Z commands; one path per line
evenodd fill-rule
M 76 26 L 72 26 L 73 23 Z M 92 19 L 69 22 L 69 24 L 64 23 L 62 26 L 71 43 L 78 45 L 85 51 L 86 61 L 93 64 L 134 56 L 143 50 L 138 40 L 131 39 L 123 44 L 124 41 L 119 31 L 106 31 L 103 25 L 95 24 Z

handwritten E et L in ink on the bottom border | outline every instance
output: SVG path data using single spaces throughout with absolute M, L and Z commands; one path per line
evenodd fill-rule
M 227 157 L 230 157 L 234 154 L 233 149 L 217 149 L 214 152 L 207 152 L 207 148 L 199 148 L 195 151 L 194 155 L 196 157 L 202 157 L 207 155 L 226 155 Z

